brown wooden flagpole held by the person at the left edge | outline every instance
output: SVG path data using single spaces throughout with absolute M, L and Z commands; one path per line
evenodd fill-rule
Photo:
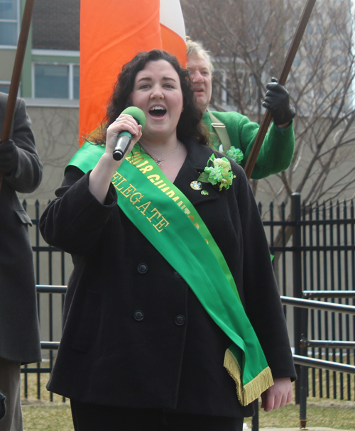
M 30 31 L 31 19 L 33 13 L 33 6 L 35 0 L 26 0 L 25 8 L 23 9 L 23 16 L 21 22 L 20 36 L 18 36 L 17 50 L 15 62 L 13 64 L 13 72 L 11 77 L 11 84 L 9 89 L 9 97 L 7 99 L 4 124 L 2 126 L 1 142 L 6 141 L 11 136 L 11 129 L 13 123 L 13 115 L 15 113 L 16 99 L 18 93 L 18 87 L 21 80 L 21 70 L 23 66 L 23 59 L 25 58 L 26 45 L 28 40 L 28 33 Z M 0 173 L 0 189 L 2 182 L 2 173 Z

